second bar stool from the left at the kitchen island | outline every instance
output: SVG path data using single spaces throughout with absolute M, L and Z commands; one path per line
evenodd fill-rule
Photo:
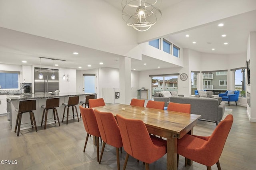
M 48 99 L 46 99 L 46 105 L 41 106 L 44 109 L 43 115 L 42 115 L 42 121 L 41 121 L 41 127 L 42 127 L 43 121 L 44 121 L 44 130 L 46 129 L 46 123 L 47 123 L 48 120 L 52 120 L 52 121 L 48 121 L 48 122 L 53 122 L 54 121 L 56 123 L 56 117 L 57 117 L 57 121 L 58 121 L 59 126 L 60 126 L 58 111 L 56 109 L 56 107 L 59 107 L 59 106 L 60 106 L 60 98 L 48 98 Z M 49 109 L 52 109 L 54 120 L 52 118 L 47 119 Z M 44 113 L 45 113 L 45 118 L 44 118 Z

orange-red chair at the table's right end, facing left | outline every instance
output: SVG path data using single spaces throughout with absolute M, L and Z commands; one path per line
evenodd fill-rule
M 211 136 L 196 136 L 186 134 L 178 139 L 178 154 L 185 157 L 186 160 L 191 159 L 200 164 L 206 165 L 207 170 L 211 170 L 211 166 L 217 164 L 220 168 L 219 158 L 224 148 L 228 133 L 233 123 L 233 116 L 228 115 L 219 123 Z

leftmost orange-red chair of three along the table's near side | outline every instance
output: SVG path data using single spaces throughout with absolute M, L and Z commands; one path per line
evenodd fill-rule
M 96 117 L 94 114 L 94 111 L 92 108 L 84 108 L 82 106 L 79 106 L 82 119 L 84 122 L 84 128 L 87 132 L 85 144 L 84 144 L 84 152 L 86 148 L 86 144 L 88 141 L 89 134 L 96 136 L 96 144 L 97 144 L 97 161 L 99 162 L 99 137 L 100 137 L 100 131 L 98 128 L 98 124 L 96 121 Z

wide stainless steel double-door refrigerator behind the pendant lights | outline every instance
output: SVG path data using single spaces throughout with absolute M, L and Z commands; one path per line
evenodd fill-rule
M 43 79 L 39 79 L 39 74 L 42 73 Z M 54 73 L 55 79 L 52 80 L 51 76 Z M 59 89 L 59 70 L 58 69 L 47 69 L 47 68 L 38 68 L 34 69 L 34 93 L 44 94 Z

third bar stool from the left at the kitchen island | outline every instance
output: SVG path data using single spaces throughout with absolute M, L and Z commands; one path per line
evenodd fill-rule
M 79 96 L 72 96 L 72 97 L 68 97 L 68 103 L 62 103 L 62 105 L 64 105 L 64 112 L 63 112 L 63 117 L 62 117 L 62 122 L 64 120 L 64 115 L 65 115 L 65 110 L 66 107 L 68 107 L 67 109 L 67 116 L 65 116 L 67 118 L 67 125 L 68 125 L 68 111 L 69 111 L 69 107 L 72 106 L 72 111 L 73 111 L 73 119 L 75 120 L 75 116 L 78 119 L 79 122 L 79 118 L 78 118 L 78 112 L 77 112 L 77 108 L 76 105 L 79 104 Z M 76 115 L 74 115 L 74 107 L 76 108 Z

